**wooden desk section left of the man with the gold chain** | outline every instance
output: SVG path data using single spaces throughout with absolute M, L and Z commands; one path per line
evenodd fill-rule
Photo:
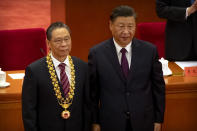
M 12 79 L 8 74 L 24 71 L 6 72 L 9 87 L 0 88 L 0 131 L 23 131 L 21 113 L 21 91 L 23 79 Z

